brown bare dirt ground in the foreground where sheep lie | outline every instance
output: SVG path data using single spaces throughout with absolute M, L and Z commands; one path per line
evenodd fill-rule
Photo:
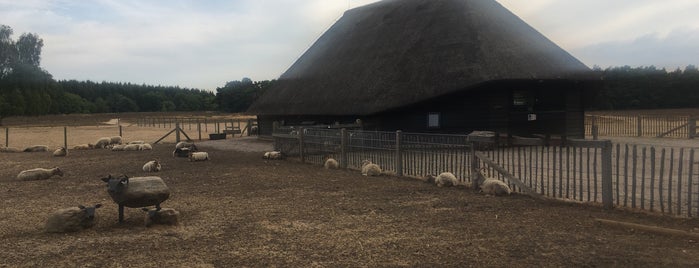
M 48 123 L 48 122 L 47 122 Z M 143 136 L 154 130 L 143 129 Z M 159 129 L 158 134 L 163 130 Z M 138 136 L 138 133 L 133 135 Z M 264 160 L 255 138 L 198 141 L 210 161 L 152 151 L 70 150 L 0 154 L 0 267 L 697 267 L 699 220 L 586 204 L 491 197 L 355 170 Z M 100 178 L 157 175 L 178 226 L 144 226 L 117 206 Z M 24 169 L 58 166 L 63 177 L 18 181 Z M 43 231 L 60 208 L 102 203 L 76 233 Z M 655 233 L 596 219 L 688 232 Z

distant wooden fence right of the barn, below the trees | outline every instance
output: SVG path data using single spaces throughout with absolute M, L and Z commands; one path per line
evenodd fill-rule
M 586 136 L 694 138 L 696 117 L 688 115 L 585 115 Z

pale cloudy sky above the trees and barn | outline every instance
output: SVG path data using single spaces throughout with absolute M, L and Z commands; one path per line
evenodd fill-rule
M 376 0 L 0 0 L 54 78 L 215 90 L 278 78 L 348 8 Z M 589 67 L 699 65 L 697 0 L 498 0 Z

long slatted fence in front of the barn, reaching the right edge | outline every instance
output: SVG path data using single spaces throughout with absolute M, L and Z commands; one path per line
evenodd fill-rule
M 277 129 L 273 136 L 276 149 L 306 163 L 322 165 L 331 156 L 343 168 L 361 169 L 369 159 L 389 174 L 422 178 L 448 171 L 465 185 L 483 170 L 517 192 L 699 215 L 693 148 L 317 128 Z

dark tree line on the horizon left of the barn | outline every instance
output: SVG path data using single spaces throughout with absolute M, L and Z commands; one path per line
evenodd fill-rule
M 216 93 L 131 83 L 53 79 L 41 68 L 44 41 L 0 25 L 0 123 L 8 116 L 72 113 L 222 111 L 244 112 L 273 81 L 230 81 Z

